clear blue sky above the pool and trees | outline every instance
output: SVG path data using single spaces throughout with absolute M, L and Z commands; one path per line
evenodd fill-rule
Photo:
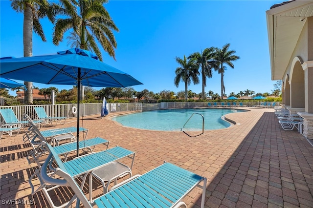
M 106 55 L 104 62 L 118 68 L 144 83 L 134 86 L 136 91 L 148 89 L 179 92 L 184 83 L 174 85 L 175 57 L 183 58 L 206 47 L 222 48 L 230 43 L 240 59 L 234 69 L 228 67 L 224 74 L 226 94 L 246 89 L 256 93 L 274 89 L 270 76 L 266 11 L 282 1 L 120 1 L 105 4 L 112 20 L 119 28 L 116 61 Z M 10 1 L 0 1 L 0 57 L 23 56 L 22 13 L 15 12 Z M 33 36 L 33 56 L 54 54 L 70 48 L 67 39 L 59 46 L 52 43 L 53 25 L 41 20 L 47 42 Z M 66 37 L 66 36 L 65 36 Z M 34 83 L 39 88 L 55 86 L 59 90 L 67 85 Z M 94 88 L 96 90 L 101 88 Z M 188 86 L 201 93 L 201 83 Z M 213 72 L 207 80 L 205 91 L 221 93 L 221 75 Z M 10 94 L 16 95 L 10 90 Z

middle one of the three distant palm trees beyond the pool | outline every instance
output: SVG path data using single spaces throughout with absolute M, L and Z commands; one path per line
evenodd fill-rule
M 201 66 L 202 99 L 205 99 L 204 87 L 206 87 L 206 77 L 212 77 L 214 51 L 214 47 L 205 48 L 202 53 L 195 52 L 188 57 L 188 59 L 196 59 L 199 68 Z

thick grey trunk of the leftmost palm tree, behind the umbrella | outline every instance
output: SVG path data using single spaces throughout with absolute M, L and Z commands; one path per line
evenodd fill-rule
M 33 55 L 33 12 L 30 3 L 25 3 L 24 22 L 23 22 L 23 47 L 24 57 Z M 24 82 L 27 90 L 24 91 L 24 102 L 26 104 L 33 103 L 33 83 Z

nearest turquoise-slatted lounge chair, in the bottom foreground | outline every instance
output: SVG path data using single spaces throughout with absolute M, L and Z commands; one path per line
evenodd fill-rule
M 54 170 L 54 174 L 60 176 L 60 179 L 50 177 L 46 171 L 49 164 L 56 162 L 59 168 Z M 193 172 L 185 170 L 181 167 L 164 163 L 143 175 L 136 175 L 131 179 L 122 182 L 120 185 L 112 187 L 112 189 L 103 196 L 89 201 L 72 176 L 71 169 L 58 159 L 57 155 L 50 152 L 40 171 L 43 181 L 47 184 L 55 186 L 68 186 L 74 192 L 70 203 L 76 200 L 76 205 L 82 203 L 85 208 L 92 208 L 96 205 L 99 208 L 109 207 L 161 207 L 172 208 L 184 206 L 181 200 L 195 187 L 202 188 L 201 208 L 204 208 L 206 178 L 201 177 Z M 202 184 L 201 186 L 200 184 Z M 45 197 L 49 203 L 49 199 L 45 187 L 43 188 Z M 50 204 L 50 206 L 52 206 Z

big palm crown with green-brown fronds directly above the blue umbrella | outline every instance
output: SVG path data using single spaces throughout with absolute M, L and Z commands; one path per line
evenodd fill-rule
M 64 34 L 71 46 L 93 51 L 103 61 L 98 43 L 115 60 L 116 41 L 112 31 L 119 31 L 103 6 L 108 0 L 61 0 L 67 18 L 56 21 L 53 43 L 59 45 Z

